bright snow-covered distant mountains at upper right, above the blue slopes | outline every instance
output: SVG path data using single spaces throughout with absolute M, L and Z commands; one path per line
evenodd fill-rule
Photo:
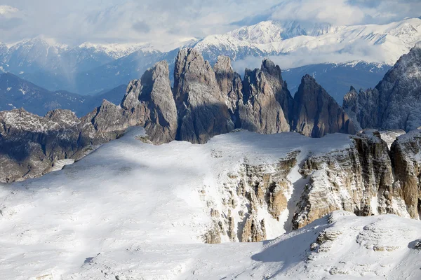
M 250 54 L 286 55 L 283 68 L 327 62 L 365 61 L 393 65 L 401 55 L 421 40 L 421 20 L 407 19 L 388 25 L 302 27 L 298 22 L 266 21 L 227 34 L 203 38 L 195 48 L 209 57 L 218 50 L 236 52 L 248 48 Z M 242 52 L 244 52 L 242 50 Z M 305 57 L 318 55 L 318 57 Z M 290 58 L 288 60 L 288 57 Z

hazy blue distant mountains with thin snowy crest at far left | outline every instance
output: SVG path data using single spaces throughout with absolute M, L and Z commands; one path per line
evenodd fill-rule
M 76 73 L 95 69 L 137 51 L 155 52 L 150 44 L 82 43 L 69 46 L 38 36 L 9 46 L 1 44 L 0 66 L 2 71 L 15 73 L 48 90 L 74 91 Z

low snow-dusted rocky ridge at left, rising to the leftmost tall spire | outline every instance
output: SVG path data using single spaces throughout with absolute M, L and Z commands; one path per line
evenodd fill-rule
M 54 162 L 79 160 L 135 125 L 145 126 L 154 144 L 173 140 L 177 111 L 168 75 L 168 64 L 159 62 L 129 83 L 121 106 L 104 100 L 80 119 L 68 110 L 45 117 L 23 109 L 0 112 L 0 181 L 41 176 Z

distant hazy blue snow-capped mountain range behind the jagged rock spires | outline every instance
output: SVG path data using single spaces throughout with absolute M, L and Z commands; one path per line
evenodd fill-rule
M 258 66 L 262 57 L 270 57 L 288 70 L 290 88 L 298 88 L 303 72 L 311 71 L 309 74 L 320 76 L 321 85 L 342 102 L 350 85 L 374 85 L 420 40 L 421 20 L 417 18 L 347 27 L 269 20 L 180 47 L 199 50 L 211 64 L 219 55 L 226 55 L 237 70 Z M 1 44 L 0 69 L 51 91 L 86 95 L 140 78 L 163 59 L 173 69 L 177 53 L 178 49 L 159 50 L 150 44 L 68 46 L 39 36 L 13 45 Z M 333 75 L 325 75 L 327 72 Z

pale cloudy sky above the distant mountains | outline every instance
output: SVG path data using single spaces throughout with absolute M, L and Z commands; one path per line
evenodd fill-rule
M 163 45 L 261 20 L 384 24 L 421 16 L 421 0 L 0 0 L 0 41 Z

